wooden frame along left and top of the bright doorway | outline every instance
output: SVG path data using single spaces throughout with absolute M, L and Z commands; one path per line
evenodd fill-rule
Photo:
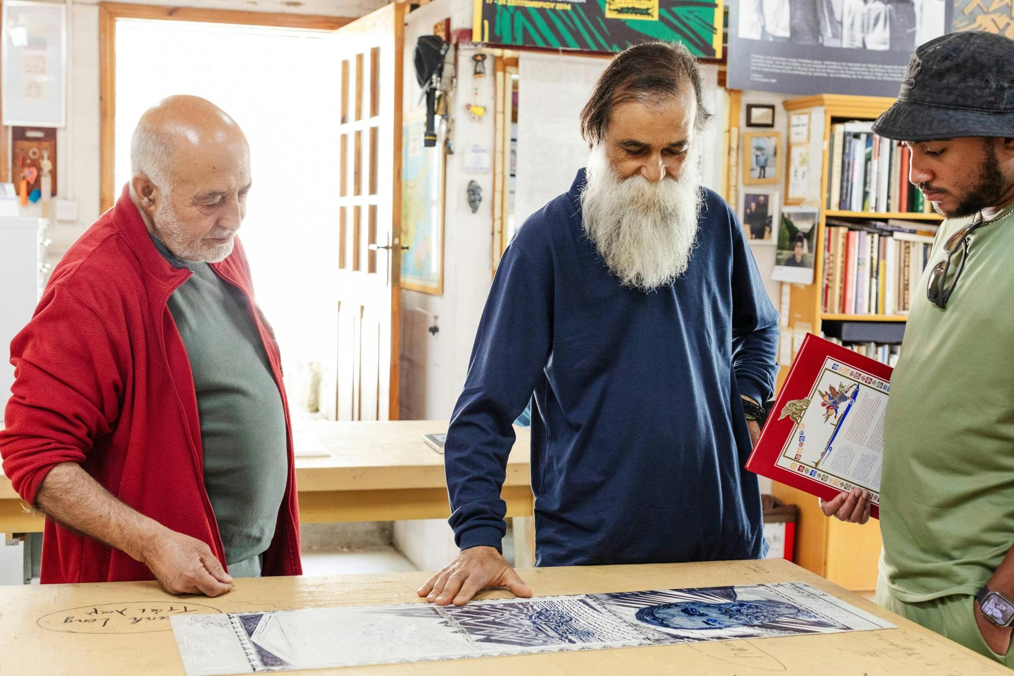
M 98 171 L 99 205 L 102 212 L 112 208 L 117 199 L 117 187 L 114 185 L 116 182 L 117 131 L 117 19 L 121 18 L 336 30 L 355 21 L 358 17 L 135 5 L 120 2 L 98 3 L 98 93 L 100 102 Z

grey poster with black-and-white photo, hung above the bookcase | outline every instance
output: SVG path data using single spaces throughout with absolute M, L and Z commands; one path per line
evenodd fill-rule
M 945 0 L 733 0 L 729 88 L 896 96 L 916 48 L 950 32 Z

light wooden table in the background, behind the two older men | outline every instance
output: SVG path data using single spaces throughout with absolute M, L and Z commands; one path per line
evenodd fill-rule
M 508 517 L 530 517 L 530 436 L 525 427 L 514 429 L 517 442 L 502 494 Z M 443 456 L 423 442 L 423 434 L 446 431 L 446 420 L 298 423 L 293 436 L 300 521 L 446 519 Z M 329 455 L 298 455 L 310 446 L 322 446 Z M 0 533 L 42 530 L 42 516 L 26 513 L 10 480 L 0 474 Z

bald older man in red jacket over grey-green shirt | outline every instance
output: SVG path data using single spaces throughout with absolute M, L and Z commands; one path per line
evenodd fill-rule
M 236 231 L 242 131 L 203 98 L 141 118 L 133 179 L 11 344 L 4 472 L 46 514 L 43 583 L 224 594 L 298 574 L 278 347 Z

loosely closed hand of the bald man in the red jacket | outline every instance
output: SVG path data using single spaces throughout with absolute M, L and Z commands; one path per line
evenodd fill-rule
M 162 528 L 140 550 L 147 565 L 169 594 L 221 596 L 232 591 L 232 578 L 222 569 L 207 544 Z

